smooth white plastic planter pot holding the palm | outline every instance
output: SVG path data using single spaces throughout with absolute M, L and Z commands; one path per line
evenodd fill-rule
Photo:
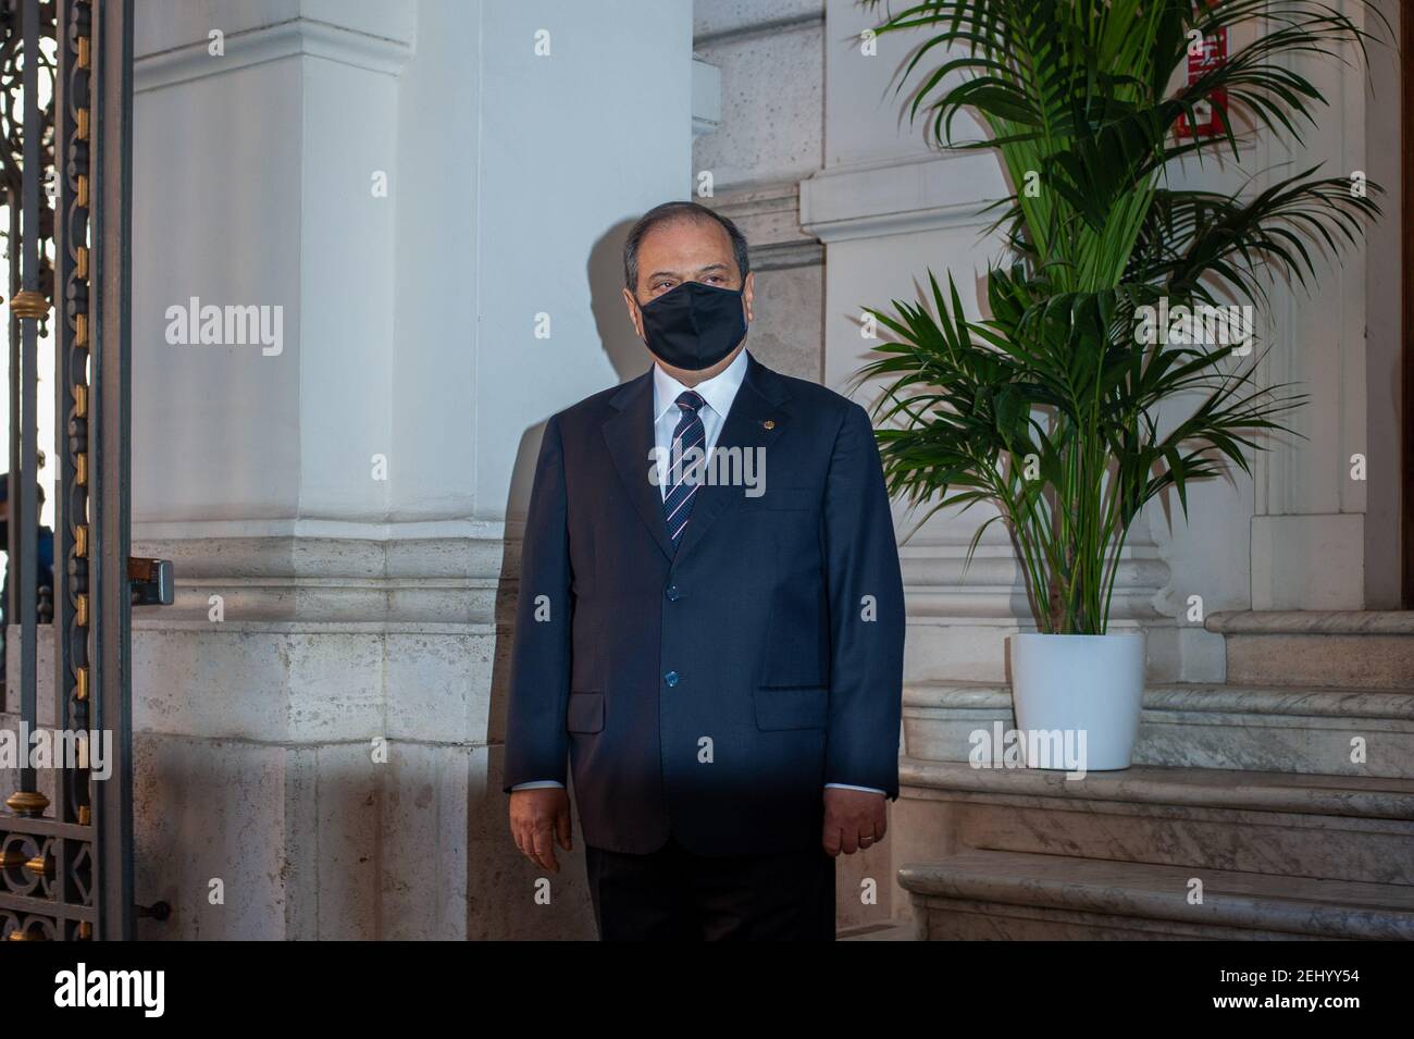
M 1144 701 L 1143 632 L 1014 635 L 1011 681 L 1028 768 L 1130 766 Z

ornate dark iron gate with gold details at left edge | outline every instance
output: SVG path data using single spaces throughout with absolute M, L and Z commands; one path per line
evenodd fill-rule
M 47 727 L 57 756 L 52 768 L 27 761 L 4 772 L 17 782 L 0 810 L 0 934 L 127 939 L 129 642 L 133 577 L 147 577 L 147 561 L 129 560 L 132 0 L 0 0 L 0 18 L 14 520 L 4 609 L 6 633 L 18 635 L 6 656 L 20 657 L 7 662 L 18 688 L 6 690 L 6 711 L 18 717 L 21 755 L 31 746 L 24 736 Z M 55 353 L 49 625 L 37 557 L 37 359 L 45 332 Z M 54 704 L 41 715 L 42 628 L 54 636 Z M 105 748 L 92 741 L 107 738 L 100 761 Z M 76 758 L 58 759 L 69 746 Z

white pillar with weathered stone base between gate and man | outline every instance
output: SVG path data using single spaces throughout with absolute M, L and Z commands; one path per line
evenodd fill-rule
M 542 912 L 506 833 L 498 618 L 542 423 L 642 359 L 618 247 L 690 184 L 690 8 L 137 17 L 134 550 L 178 577 L 134 621 L 151 933 L 588 936 L 574 864 Z M 167 342 L 194 295 L 281 307 L 280 349 Z

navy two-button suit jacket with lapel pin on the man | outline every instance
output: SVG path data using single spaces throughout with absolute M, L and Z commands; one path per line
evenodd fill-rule
M 573 775 L 587 844 L 819 847 L 824 783 L 898 799 L 904 582 L 868 414 L 764 366 L 674 551 L 649 478 L 652 369 L 550 417 L 526 517 L 505 783 Z

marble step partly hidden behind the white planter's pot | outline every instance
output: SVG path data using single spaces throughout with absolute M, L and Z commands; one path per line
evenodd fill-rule
M 904 688 L 911 758 L 967 761 L 1014 722 L 1011 687 Z M 1144 690 L 1135 765 L 1414 779 L 1414 690 L 1169 684 Z

